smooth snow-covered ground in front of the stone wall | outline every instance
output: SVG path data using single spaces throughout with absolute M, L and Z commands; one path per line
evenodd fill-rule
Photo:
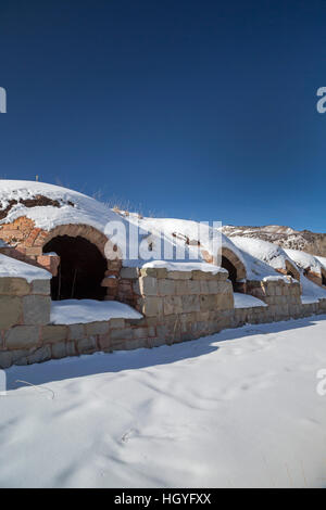
M 11 368 L 0 486 L 325 487 L 323 368 L 326 316 Z

